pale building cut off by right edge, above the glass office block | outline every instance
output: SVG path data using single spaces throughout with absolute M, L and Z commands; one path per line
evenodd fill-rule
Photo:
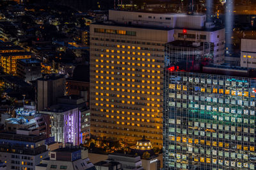
M 256 40 L 241 40 L 241 66 L 256 68 Z

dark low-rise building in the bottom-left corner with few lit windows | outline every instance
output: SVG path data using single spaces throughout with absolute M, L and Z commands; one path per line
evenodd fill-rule
M 6 169 L 33 170 L 48 157 L 45 135 L 33 135 L 28 130 L 0 132 L 0 148 L 0 162 Z

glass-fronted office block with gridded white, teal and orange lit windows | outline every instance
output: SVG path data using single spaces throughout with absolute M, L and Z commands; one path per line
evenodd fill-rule
M 255 169 L 251 75 L 225 66 L 204 66 L 202 73 L 166 67 L 164 169 Z

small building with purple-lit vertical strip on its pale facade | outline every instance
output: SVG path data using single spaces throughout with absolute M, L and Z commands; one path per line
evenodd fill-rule
M 74 146 L 81 143 L 81 112 L 77 107 L 54 105 L 50 110 L 40 112 L 50 114 L 51 136 L 55 137 L 56 142 L 64 146 L 66 143 Z

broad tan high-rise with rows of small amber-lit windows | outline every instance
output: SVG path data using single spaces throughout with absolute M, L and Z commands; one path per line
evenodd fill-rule
M 109 20 L 90 25 L 91 134 L 125 142 L 145 135 L 161 147 L 164 45 L 175 27 L 204 29 L 205 16 L 109 11 Z

